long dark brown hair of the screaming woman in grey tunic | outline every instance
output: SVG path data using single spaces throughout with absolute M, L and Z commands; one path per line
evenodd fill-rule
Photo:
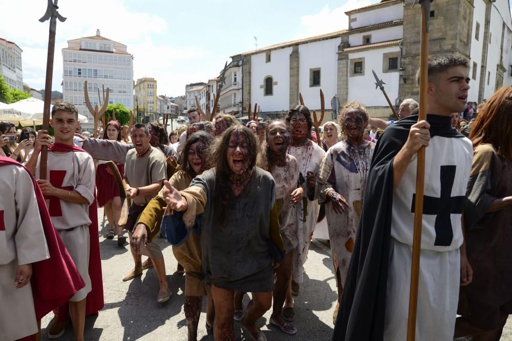
M 228 208 L 231 199 L 231 183 L 229 181 L 231 169 L 227 163 L 227 152 L 229 146 L 229 138 L 233 133 L 239 132 L 245 136 L 248 150 L 250 153 L 250 162 L 248 169 L 254 168 L 256 165 L 260 146 L 258 139 L 254 133 L 247 127 L 236 124 L 227 128 L 219 139 L 211 146 L 209 153 L 210 165 L 215 165 L 215 189 L 213 200 L 215 205 L 216 219 L 220 226 L 226 226 L 228 222 Z

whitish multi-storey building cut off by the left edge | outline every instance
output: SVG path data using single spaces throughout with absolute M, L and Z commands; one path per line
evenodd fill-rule
M 23 91 L 22 52 L 16 43 L 0 38 L 0 75 L 10 88 Z

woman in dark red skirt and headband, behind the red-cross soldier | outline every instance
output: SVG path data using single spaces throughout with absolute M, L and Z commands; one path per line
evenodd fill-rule
M 121 125 L 118 121 L 109 121 L 103 132 L 103 140 L 121 141 Z M 116 164 L 121 178 L 124 176 L 124 164 Z M 106 166 L 106 161 L 98 160 L 96 168 L 96 188 L 98 189 L 98 206 L 105 208 L 106 219 L 109 221 L 109 232 L 107 239 L 114 239 L 114 236 L 122 237 L 122 227 L 116 224 L 121 217 L 121 198 L 116 185 L 114 174 Z M 114 227 L 115 226 L 115 227 Z

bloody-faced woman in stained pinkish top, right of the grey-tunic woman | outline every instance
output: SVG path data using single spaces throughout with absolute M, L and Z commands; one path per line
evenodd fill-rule
M 273 292 L 270 323 L 287 334 L 295 334 L 297 332 L 295 326 L 283 320 L 282 312 L 292 277 L 293 252 L 298 244 L 293 206 L 302 201 L 304 190 L 302 187 L 297 188 L 299 173 L 297 159 L 288 154 L 291 142 L 288 124 L 285 121 L 270 122 L 265 135 L 266 144 L 262 145 L 261 166 L 269 171 L 275 180 L 275 200 L 279 208 L 281 238 L 285 247 L 284 260 L 275 271 L 277 281 Z

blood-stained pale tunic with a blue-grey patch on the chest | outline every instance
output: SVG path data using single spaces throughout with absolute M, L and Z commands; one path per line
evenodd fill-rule
M 331 202 L 325 204 L 332 261 L 340 274 L 341 283 L 337 284 L 342 286 L 347 278 L 374 148 L 371 142 L 353 146 L 344 140 L 327 151 L 320 166 L 318 181 L 323 196 L 334 190 L 348 203 L 343 214 L 334 212 Z

